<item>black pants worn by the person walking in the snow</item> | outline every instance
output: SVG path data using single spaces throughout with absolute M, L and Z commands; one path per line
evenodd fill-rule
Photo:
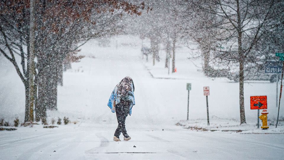
M 131 101 L 129 100 L 121 100 L 120 103 L 118 103 L 115 106 L 115 112 L 117 117 L 118 126 L 117 129 L 114 132 L 114 136 L 119 138 L 121 132 L 124 135 L 124 137 L 128 138 L 128 134 L 125 129 L 125 119 L 129 114 L 129 107 L 131 105 Z

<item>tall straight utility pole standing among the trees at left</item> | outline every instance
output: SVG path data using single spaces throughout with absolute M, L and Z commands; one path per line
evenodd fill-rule
M 35 72 L 35 28 L 34 28 L 34 0 L 30 0 L 30 56 L 29 56 L 29 113 L 28 113 L 28 121 L 33 121 L 33 107 L 34 107 L 34 89 L 33 89 L 33 81 L 34 81 L 34 72 Z

